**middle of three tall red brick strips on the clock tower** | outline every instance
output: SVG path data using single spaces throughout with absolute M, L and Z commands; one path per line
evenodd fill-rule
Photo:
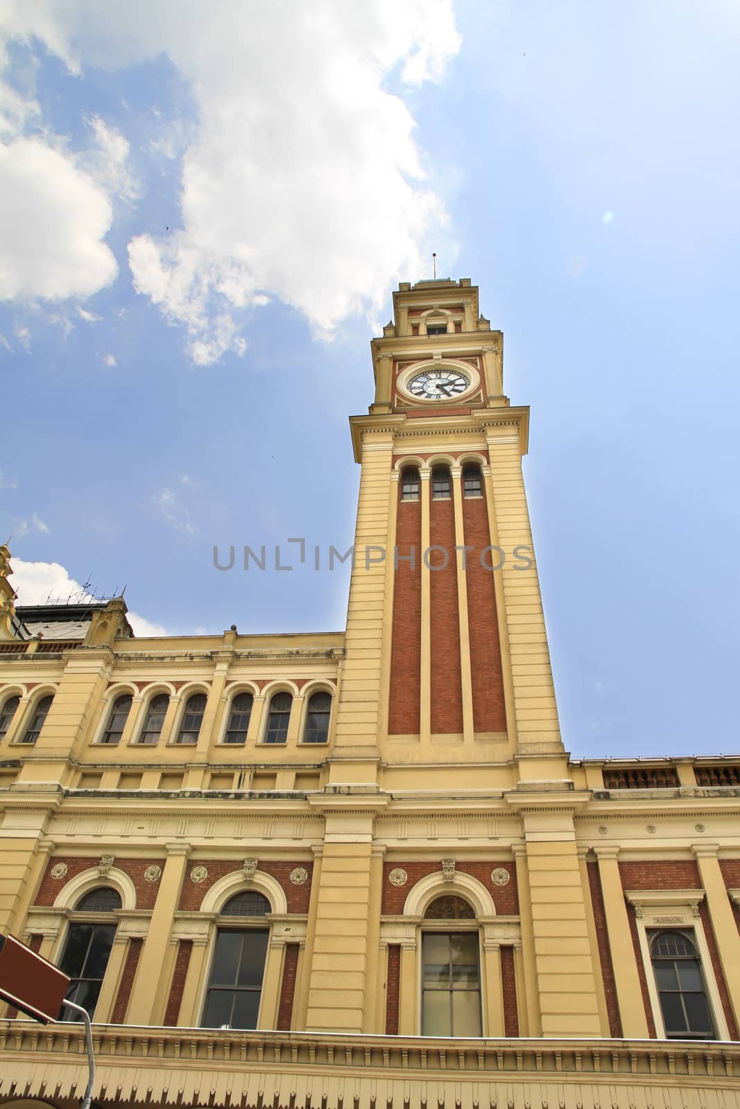
M 430 486 L 432 482 L 428 482 Z M 428 489 L 430 494 L 430 488 Z M 463 679 L 460 675 L 460 624 L 457 612 L 457 563 L 455 554 L 455 506 L 452 498 L 429 505 L 432 641 L 432 732 L 448 735 L 463 731 Z M 443 553 L 444 551 L 444 553 Z M 446 564 L 445 564 L 446 562 Z

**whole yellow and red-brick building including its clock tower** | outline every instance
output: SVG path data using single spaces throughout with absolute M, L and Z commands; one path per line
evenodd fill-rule
M 0 928 L 109 929 L 100 1105 L 734 1106 L 740 756 L 566 753 L 503 335 L 402 284 L 372 356 L 343 632 L 135 639 L 17 607 L 0 548 Z M 79 1026 L 0 1040 L 0 1098 L 80 1097 Z

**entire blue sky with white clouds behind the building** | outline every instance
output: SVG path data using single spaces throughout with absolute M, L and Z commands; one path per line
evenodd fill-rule
M 342 628 L 344 571 L 212 548 L 349 546 L 368 340 L 435 250 L 531 406 L 566 746 L 739 750 L 737 6 L 353 7 L 0 9 L 21 599 L 69 577 L 125 582 L 141 630 Z

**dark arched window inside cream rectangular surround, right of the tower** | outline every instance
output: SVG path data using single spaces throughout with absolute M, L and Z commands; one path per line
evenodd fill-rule
M 714 1039 L 701 963 L 686 932 L 657 932 L 650 957 L 668 1039 Z

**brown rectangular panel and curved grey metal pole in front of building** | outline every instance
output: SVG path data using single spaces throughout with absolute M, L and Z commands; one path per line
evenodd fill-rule
M 57 1020 L 62 1006 L 77 1013 L 84 1024 L 88 1048 L 88 1089 L 82 1109 L 90 1109 L 92 1086 L 95 1080 L 95 1057 L 92 1049 L 92 1026 L 87 1009 L 64 997 L 70 979 L 65 974 L 26 947 L 14 936 L 0 936 L 0 998 L 14 1005 L 21 1013 L 48 1025 Z

